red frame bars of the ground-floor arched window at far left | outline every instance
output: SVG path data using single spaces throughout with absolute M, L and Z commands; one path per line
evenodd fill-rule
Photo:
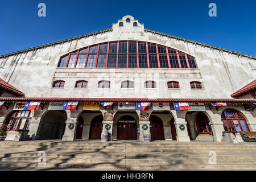
M 22 113 L 24 112 L 24 114 L 25 114 L 27 111 L 28 111 L 27 117 L 25 117 L 25 116 L 22 117 L 21 116 Z M 19 112 L 20 112 L 20 115 L 18 116 Z M 8 119 L 7 119 L 7 123 L 6 123 L 7 127 L 10 123 L 10 120 L 13 119 L 13 121 L 11 122 L 10 127 L 8 128 L 8 131 L 15 131 L 15 130 L 13 130 L 13 126 L 15 124 L 16 119 L 19 119 L 18 124 L 16 125 L 17 129 L 19 129 L 22 119 L 26 119 L 26 122 L 24 123 L 24 126 L 23 126 L 22 129 L 27 129 L 27 123 L 31 120 L 31 118 L 32 118 L 32 116 L 31 116 L 31 111 L 30 110 L 16 110 L 16 111 L 13 111 L 13 113 L 11 113 L 10 117 L 8 117 Z

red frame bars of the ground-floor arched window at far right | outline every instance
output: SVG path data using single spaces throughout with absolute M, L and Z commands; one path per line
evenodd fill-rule
M 230 111 L 232 111 L 236 115 L 236 118 L 226 118 L 225 114 L 224 114 L 224 111 L 222 111 L 222 113 L 221 113 L 221 121 L 225 122 L 227 131 L 230 131 L 229 125 L 228 125 L 228 121 L 231 121 L 234 131 L 237 131 L 236 126 L 235 126 L 235 124 L 233 122 L 234 120 L 238 121 L 238 125 L 240 126 L 241 131 L 243 131 L 243 128 L 242 128 L 240 120 L 245 122 L 245 126 L 246 126 L 247 131 L 250 131 L 249 126 L 247 125 L 247 121 L 246 121 L 245 117 L 243 117 L 243 115 L 240 112 L 238 112 L 238 111 L 236 111 L 234 109 L 225 109 L 225 110 L 230 110 Z M 238 115 L 240 115 L 241 118 Z M 240 133 L 240 131 L 237 131 L 237 132 Z

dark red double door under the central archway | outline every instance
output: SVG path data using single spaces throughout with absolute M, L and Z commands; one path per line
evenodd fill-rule
M 117 139 L 136 140 L 137 126 L 136 121 L 119 121 L 117 125 Z

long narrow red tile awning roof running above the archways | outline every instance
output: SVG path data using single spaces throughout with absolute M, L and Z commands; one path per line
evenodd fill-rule
M 120 101 L 120 102 L 256 102 L 256 99 L 233 99 L 233 98 L 12 98 L 0 97 L 0 101 Z

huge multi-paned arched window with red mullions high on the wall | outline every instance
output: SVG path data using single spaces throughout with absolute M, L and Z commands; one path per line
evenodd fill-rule
M 123 23 L 123 22 L 120 22 Z M 120 40 L 104 42 L 60 57 L 59 68 L 197 68 L 195 57 L 167 46 Z

